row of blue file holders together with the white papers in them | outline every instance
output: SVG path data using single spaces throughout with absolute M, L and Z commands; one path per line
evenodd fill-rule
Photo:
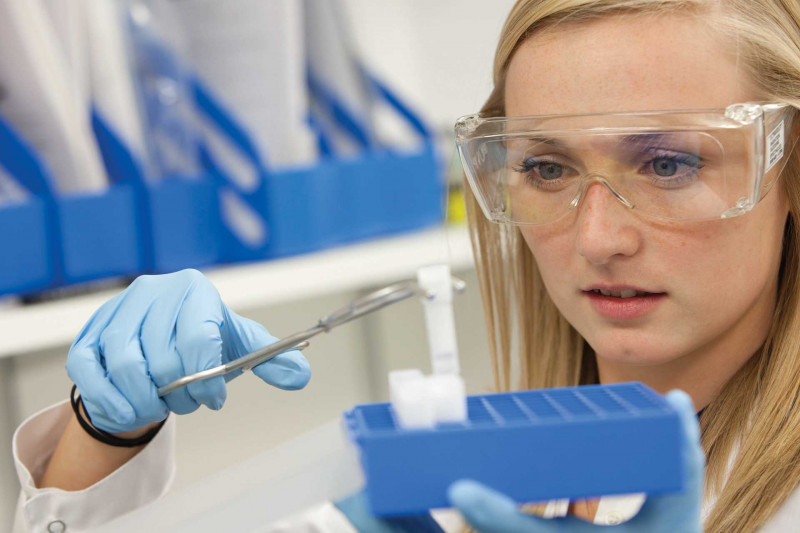
M 22 74 L 15 54 L 0 59 L 4 190 L 13 182 L 25 193 L 14 209 L 0 205 L 1 220 L 25 228 L 0 243 L 15 258 L 0 264 L 0 296 L 285 257 L 443 221 L 432 134 L 335 42 L 348 31 L 338 3 L 70 0 L 63 17 L 67 5 L 50 0 L 0 9 L 7 49 L 31 57 Z M 331 9 L 338 30 L 321 26 Z M 304 34 L 307 17 L 327 45 Z M 31 24 L 49 40 L 26 40 Z M 323 69 L 309 41 L 338 54 L 349 81 Z M 312 112 L 323 92 L 342 103 L 336 113 Z M 405 123 L 414 145 L 372 138 L 340 149 L 331 132 L 357 122 L 371 131 L 375 106 Z M 53 163 L 42 131 L 68 141 L 52 146 L 74 164 Z M 94 155 L 73 157 L 73 144 Z M 63 185 L 64 169 L 91 183 Z

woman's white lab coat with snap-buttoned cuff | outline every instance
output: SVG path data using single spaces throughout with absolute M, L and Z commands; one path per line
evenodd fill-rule
M 13 533 L 31 531 L 90 531 L 159 498 L 175 477 L 175 421 L 169 420 L 139 454 L 95 485 L 76 492 L 38 489 L 43 472 L 70 417 L 68 402 L 54 405 L 28 418 L 14 434 L 13 452 L 22 487 Z M 602 498 L 595 523 L 613 524 L 636 514 L 641 502 L 634 498 Z M 703 515 L 710 505 L 705 502 Z M 557 510 L 556 515 L 561 514 Z M 455 511 L 435 511 L 433 517 L 445 532 L 460 532 L 464 522 Z M 763 533 L 797 531 L 800 521 L 800 488 L 762 529 Z M 318 505 L 301 515 L 273 524 L 272 533 L 357 533 L 331 503 Z

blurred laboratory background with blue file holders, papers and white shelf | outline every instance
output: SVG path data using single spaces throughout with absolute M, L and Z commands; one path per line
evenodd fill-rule
M 511 0 L 0 0 L 0 530 L 25 418 L 65 400 L 91 314 L 204 272 L 281 337 L 449 265 L 461 373 L 492 372 L 453 123 L 492 87 Z M 309 385 L 231 382 L 179 416 L 173 490 L 430 372 L 418 301 L 311 342 Z

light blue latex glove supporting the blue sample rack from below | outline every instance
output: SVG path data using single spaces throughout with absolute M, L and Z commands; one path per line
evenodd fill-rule
M 686 490 L 680 494 L 648 498 L 639 513 L 628 522 L 617 526 L 599 526 L 573 516 L 552 520 L 530 516 L 521 513 L 510 498 L 471 480 L 457 481 L 450 486 L 450 503 L 461 511 L 472 527 L 486 533 L 699 533 L 702 531 L 700 506 L 705 456 L 700 447 L 697 415 L 692 400 L 683 391 L 671 391 L 666 399 L 680 413 Z

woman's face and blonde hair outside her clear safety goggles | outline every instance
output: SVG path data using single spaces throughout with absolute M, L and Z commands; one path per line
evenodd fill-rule
M 799 26 L 800 4 L 793 1 L 519 2 L 501 37 L 495 90 L 483 112 L 725 108 L 747 101 L 800 108 Z M 793 134 L 787 151 L 795 147 Z M 635 217 L 599 184 L 584 192 L 577 213 L 541 225 L 490 224 L 478 216 L 474 197 L 469 204 L 498 387 L 511 385 L 503 328 L 516 308 L 521 388 L 599 377 L 687 391 L 703 409 L 708 531 L 755 530 L 800 481 L 793 466 L 800 417 L 792 403 L 800 390 L 800 157 L 797 150 L 785 157 L 780 179 L 778 166 L 766 176 L 758 205 L 729 220 Z M 500 260 L 503 254 L 509 259 Z M 655 308 L 609 318 L 614 309 L 602 309 L 607 298 L 587 290 L 612 285 L 657 294 L 641 298 L 643 305 L 657 300 L 650 302 Z

